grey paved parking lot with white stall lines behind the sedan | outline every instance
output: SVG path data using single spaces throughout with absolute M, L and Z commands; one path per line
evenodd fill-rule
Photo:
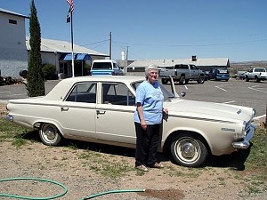
M 45 82 L 45 92 L 50 92 L 59 81 Z M 165 85 L 170 87 L 169 84 Z M 267 106 L 267 82 L 245 82 L 231 79 L 229 82 L 206 81 L 204 84 L 190 82 L 187 85 L 175 84 L 176 92 L 186 92 L 183 99 L 205 100 L 218 103 L 253 107 L 256 117 L 264 120 Z M 10 99 L 27 98 L 24 84 L 0 86 L 0 102 Z

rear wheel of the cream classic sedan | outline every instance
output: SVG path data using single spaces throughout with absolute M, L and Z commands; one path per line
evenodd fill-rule
M 53 124 L 43 124 L 39 135 L 45 145 L 57 146 L 62 140 L 61 133 Z

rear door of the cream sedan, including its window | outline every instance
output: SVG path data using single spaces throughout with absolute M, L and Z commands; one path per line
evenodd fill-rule
M 77 137 L 97 138 L 95 134 L 97 84 L 77 83 L 61 103 L 61 126 Z

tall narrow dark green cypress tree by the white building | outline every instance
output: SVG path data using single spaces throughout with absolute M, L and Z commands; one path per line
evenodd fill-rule
M 42 71 L 41 58 L 41 28 L 37 18 L 37 11 L 34 0 L 30 5 L 29 17 L 29 60 L 28 60 L 28 78 L 26 88 L 29 97 L 43 96 L 44 75 Z

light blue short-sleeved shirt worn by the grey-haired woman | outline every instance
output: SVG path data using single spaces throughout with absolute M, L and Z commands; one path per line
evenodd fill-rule
M 147 124 L 161 124 L 163 100 L 163 93 L 157 81 L 153 85 L 148 81 L 138 85 L 135 103 L 142 104 L 143 116 Z M 137 109 L 134 112 L 134 122 L 140 123 Z

